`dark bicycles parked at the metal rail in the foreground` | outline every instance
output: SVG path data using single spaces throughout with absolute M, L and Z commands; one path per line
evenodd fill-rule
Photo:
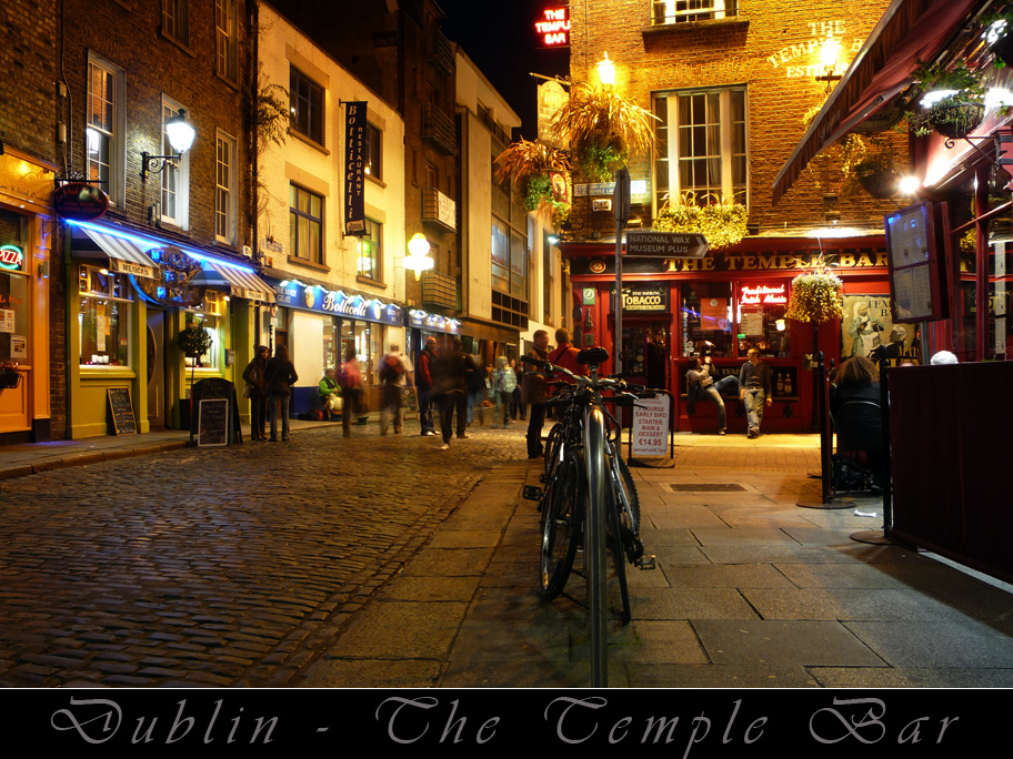
M 644 558 L 639 529 L 640 502 L 633 477 L 616 447 L 621 425 L 605 404 L 632 403 L 653 393 L 628 385 L 621 376 L 599 377 L 598 367 L 608 357 L 604 348 L 589 348 L 578 354 L 578 362 L 589 366 L 590 377 L 548 362 L 525 358 L 546 375 L 561 374 L 569 377 L 569 382 L 561 395 L 549 401 L 550 405 L 560 408 L 562 416 L 546 441 L 545 473 L 540 476 L 545 488 L 525 487 L 524 497 L 538 500 L 542 513 L 539 574 L 546 600 L 562 594 L 586 533 L 584 520 L 590 500 L 601 499 L 606 547 L 622 598 L 622 618 L 629 621 L 625 563 L 653 569 L 654 557 Z M 610 391 L 612 395 L 603 396 L 602 391 Z

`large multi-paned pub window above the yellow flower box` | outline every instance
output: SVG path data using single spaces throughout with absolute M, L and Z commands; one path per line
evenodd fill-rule
M 748 204 L 745 88 L 654 94 L 655 209 L 691 194 L 698 204 Z

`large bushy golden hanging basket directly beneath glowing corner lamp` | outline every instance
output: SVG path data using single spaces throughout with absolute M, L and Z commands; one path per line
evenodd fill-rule
M 612 88 L 580 83 L 554 115 L 551 136 L 569 144 L 578 165 L 592 181 L 605 182 L 631 155 L 654 144 L 654 114 Z

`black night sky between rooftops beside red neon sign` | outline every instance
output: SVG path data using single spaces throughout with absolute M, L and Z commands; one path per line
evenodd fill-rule
M 438 0 L 447 13 L 443 33 L 461 45 L 503 99 L 521 118 L 521 134 L 538 136 L 538 85 L 546 77 L 570 72 L 570 50 L 540 49 L 535 21 L 552 0 Z

